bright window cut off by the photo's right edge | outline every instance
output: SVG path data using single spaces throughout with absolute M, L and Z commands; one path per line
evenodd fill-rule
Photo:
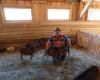
M 89 9 L 88 20 L 100 20 L 100 9 Z

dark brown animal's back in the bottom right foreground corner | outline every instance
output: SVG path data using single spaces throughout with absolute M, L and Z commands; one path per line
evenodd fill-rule
M 100 69 L 97 66 L 91 66 L 74 80 L 100 80 Z

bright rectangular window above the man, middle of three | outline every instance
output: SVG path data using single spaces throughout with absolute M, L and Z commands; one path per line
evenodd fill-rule
M 48 20 L 69 20 L 69 9 L 48 9 Z

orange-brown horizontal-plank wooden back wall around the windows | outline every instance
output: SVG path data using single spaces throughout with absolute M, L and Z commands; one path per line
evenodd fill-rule
M 32 8 L 33 20 L 30 22 L 6 22 L 4 7 Z M 70 9 L 69 21 L 48 21 L 48 8 Z M 63 1 L 2 0 L 0 4 L 0 47 L 21 46 L 35 38 L 48 37 L 55 27 L 60 27 L 67 35 L 76 35 L 78 30 L 100 34 L 100 22 L 78 21 L 79 3 Z M 85 15 L 84 15 L 85 16 Z

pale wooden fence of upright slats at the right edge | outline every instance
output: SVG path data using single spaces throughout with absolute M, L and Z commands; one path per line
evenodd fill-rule
M 77 44 L 88 49 L 90 53 L 100 54 L 100 36 L 78 31 Z

